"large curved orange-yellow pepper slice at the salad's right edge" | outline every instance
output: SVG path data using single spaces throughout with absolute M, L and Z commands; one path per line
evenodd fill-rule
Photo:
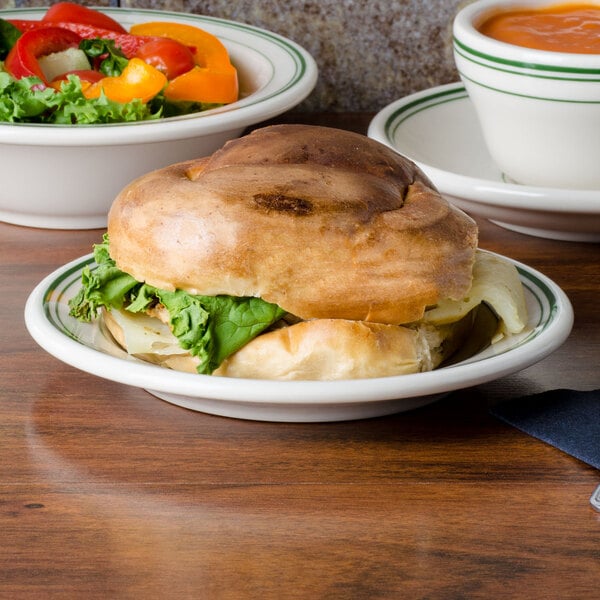
M 167 37 L 193 48 L 196 66 L 168 83 L 168 100 L 229 104 L 238 99 L 237 70 L 225 46 L 211 33 L 192 25 L 162 21 L 133 25 L 130 33 Z

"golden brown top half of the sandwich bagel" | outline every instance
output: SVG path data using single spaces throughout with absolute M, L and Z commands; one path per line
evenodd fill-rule
M 302 319 L 407 323 L 471 285 L 475 223 L 365 136 L 279 125 L 149 173 L 109 214 L 140 281 L 260 296 Z

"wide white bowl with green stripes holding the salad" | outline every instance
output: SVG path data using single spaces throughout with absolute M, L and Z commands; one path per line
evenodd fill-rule
M 0 11 L 39 19 L 45 9 Z M 103 9 L 127 29 L 174 21 L 219 37 L 238 69 L 240 99 L 218 109 L 160 121 L 115 125 L 0 123 L 0 221 L 52 229 L 106 226 L 108 209 L 132 179 L 211 154 L 249 125 L 306 98 L 317 81 L 314 59 L 269 31 L 223 19 L 153 10 Z

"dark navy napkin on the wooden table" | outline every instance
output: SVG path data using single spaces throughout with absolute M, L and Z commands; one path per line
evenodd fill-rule
M 600 390 L 552 390 L 503 402 L 490 412 L 600 469 Z

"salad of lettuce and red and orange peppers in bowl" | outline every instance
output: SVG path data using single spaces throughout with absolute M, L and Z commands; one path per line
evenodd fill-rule
M 198 27 L 155 21 L 127 31 L 71 2 L 40 20 L 0 19 L 2 122 L 143 121 L 237 99 L 225 46 Z

